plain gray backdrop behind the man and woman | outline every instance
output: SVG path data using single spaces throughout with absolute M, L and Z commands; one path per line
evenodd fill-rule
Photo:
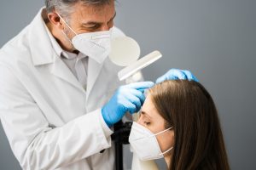
M 1 0 L 0 46 L 43 4 Z M 137 39 L 142 55 L 158 49 L 164 56 L 143 70 L 146 80 L 154 81 L 171 67 L 188 69 L 212 94 L 231 169 L 256 169 L 255 8 L 255 0 L 119 0 L 116 9 L 116 26 Z M 2 127 L 0 169 L 20 169 Z

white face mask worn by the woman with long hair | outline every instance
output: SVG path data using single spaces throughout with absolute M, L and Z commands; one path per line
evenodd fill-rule
M 160 133 L 165 133 L 171 128 L 172 127 L 169 127 Z M 160 150 L 160 146 L 155 138 L 155 136 L 160 133 L 151 133 L 148 128 L 143 127 L 137 122 L 133 122 L 129 142 L 131 144 L 131 149 L 137 154 L 140 160 L 147 161 L 160 159 L 164 157 L 164 154 L 172 150 L 172 147 L 164 152 Z

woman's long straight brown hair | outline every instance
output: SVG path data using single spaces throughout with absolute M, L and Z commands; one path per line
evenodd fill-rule
M 170 170 L 230 169 L 218 112 L 199 82 L 171 80 L 149 90 L 154 106 L 173 127 Z

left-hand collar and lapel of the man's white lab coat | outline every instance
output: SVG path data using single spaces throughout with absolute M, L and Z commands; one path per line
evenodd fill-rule
M 68 69 L 67 65 L 65 65 L 61 58 L 55 53 L 47 33 L 47 27 L 41 16 L 42 13 L 45 13 L 44 8 L 39 11 L 32 21 L 32 28 L 29 35 L 33 64 L 35 66 L 47 65 L 47 68 L 49 67 L 49 71 L 55 75 L 55 77 L 71 83 L 75 88 L 79 88 L 85 94 L 82 85 L 76 77 L 73 76 L 73 73 Z M 38 32 L 40 32 L 40 34 L 38 34 Z M 38 40 L 40 40 L 40 42 L 38 42 Z

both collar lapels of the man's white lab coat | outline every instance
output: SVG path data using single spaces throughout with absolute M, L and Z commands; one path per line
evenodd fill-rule
M 41 8 L 30 25 L 29 45 L 30 47 L 33 47 L 31 48 L 33 64 L 35 66 L 51 64 L 52 74 L 60 77 L 66 82 L 72 83 L 73 86 L 84 92 L 82 85 L 73 76 L 72 72 L 69 71 L 67 65 L 61 61 L 60 57 L 58 56 L 58 52 L 55 51 L 55 48 L 53 47 L 48 35 L 48 28 L 45 25 L 42 17 L 42 14 L 44 15 L 44 13 L 45 8 Z M 105 61 L 102 64 L 99 64 L 96 62 L 96 60 L 89 58 L 86 99 L 89 98 L 96 80 L 100 76 L 102 66 L 104 65 Z

